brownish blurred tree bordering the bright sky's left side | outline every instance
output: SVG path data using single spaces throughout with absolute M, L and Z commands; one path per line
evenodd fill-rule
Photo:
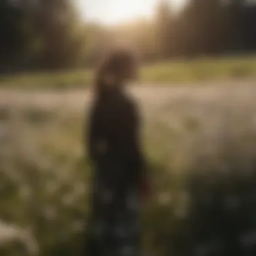
M 78 65 L 84 35 L 77 16 L 69 0 L 40 0 L 37 24 L 43 42 L 42 67 L 61 69 Z

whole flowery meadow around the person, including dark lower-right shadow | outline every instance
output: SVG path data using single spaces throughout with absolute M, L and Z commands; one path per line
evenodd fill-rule
M 143 212 L 147 255 L 226 256 L 238 247 L 253 255 L 254 82 L 131 93 L 141 103 L 154 185 Z M 89 104 L 86 89 L 0 90 L 0 255 L 79 255 L 91 184 L 82 143 Z

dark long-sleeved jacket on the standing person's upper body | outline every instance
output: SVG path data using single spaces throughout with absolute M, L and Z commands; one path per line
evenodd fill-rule
M 100 179 L 123 186 L 139 185 L 145 170 L 139 122 L 135 102 L 121 90 L 106 92 L 94 102 L 88 152 Z

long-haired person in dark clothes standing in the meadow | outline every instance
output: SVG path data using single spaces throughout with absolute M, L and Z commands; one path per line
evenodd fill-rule
M 96 74 L 88 153 L 94 168 L 88 256 L 139 255 L 141 203 L 148 193 L 140 117 L 125 84 L 137 77 L 134 55 L 116 50 Z

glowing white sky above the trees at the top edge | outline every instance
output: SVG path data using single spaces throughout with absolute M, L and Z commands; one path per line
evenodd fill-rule
M 87 20 L 103 24 L 117 24 L 133 18 L 149 17 L 159 0 L 76 0 L 79 10 Z M 179 9 L 187 0 L 169 0 Z

